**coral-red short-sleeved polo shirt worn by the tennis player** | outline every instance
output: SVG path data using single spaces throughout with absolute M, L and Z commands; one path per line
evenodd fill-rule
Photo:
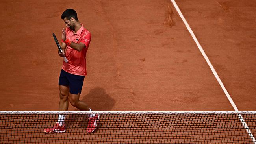
M 67 57 L 68 62 L 65 63 L 63 61 L 62 69 L 71 74 L 85 76 L 86 72 L 86 52 L 88 50 L 90 41 L 91 41 L 91 33 L 86 30 L 83 26 L 74 33 L 70 28 L 66 28 L 66 38 L 71 42 L 85 44 L 86 48 L 83 48 L 81 52 L 67 46 L 65 51 L 65 56 Z

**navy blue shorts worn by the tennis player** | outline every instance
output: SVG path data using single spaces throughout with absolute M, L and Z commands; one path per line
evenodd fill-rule
M 70 94 L 81 94 L 84 77 L 85 76 L 70 74 L 61 69 L 59 85 L 69 86 Z

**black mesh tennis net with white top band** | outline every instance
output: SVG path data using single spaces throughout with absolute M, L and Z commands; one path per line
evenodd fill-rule
M 65 115 L 65 133 L 45 134 Z M 100 115 L 88 134 L 88 115 Z M 0 143 L 255 144 L 256 111 L 0 111 Z

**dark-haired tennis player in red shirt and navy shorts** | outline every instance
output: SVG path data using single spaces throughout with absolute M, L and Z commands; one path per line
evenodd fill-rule
M 69 102 L 80 111 L 91 111 L 88 105 L 79 100 L 83 79 L 86 72 L 86 52 L 88 50 L 91 33 L 86 30 L 78 21 L 77 13 L 73 9 L 65 10 L 61 19 L 66 24 L 66 29 L 62 30 L 61 50 L 59 56 L 66 56 L 68 62 L 63 61 L 63 66 L 59 76 L 59 111 L 67 111 Z M 69 102 L 68 102 L 69 100 Z M 86 132 L 93 133 L 97 127 L 99 115 L 88 115 L 88 125 Z M 44 133 L 64 133 L 65 115 L 59 115 L 58 122 L 52 128 L 44 129 Z

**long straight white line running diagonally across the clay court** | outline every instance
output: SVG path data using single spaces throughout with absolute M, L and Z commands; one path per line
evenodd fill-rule
M 213 72 L 215 78 L 217 79 L 217 81 L 219 82 L 219 85 L 221 85 L 221 88 L 223 89 L 224 93 L 226 94 L 229 102 L 231 103 L 231 105 L 233 106 L 233 108 L 235 109 L 235 111 L 239 112 L 239 110 L 236 107 L 236 104 L 234 103 L 234 101 L 232 100 L 232 98 L 230 97 L 228 91 L 226 90 L 226 88 L 224 87 L 221 79 L 219 78 L 216 70 L 213 68 L 213 65 L 211 64 L 210 60 L 208 59 L 207 55 L 205 54 L 202 46 L 200 45 L 200 43 L 197 40 L 197 37 L 195 36 L 195 34 L 193 33 L 193 31 L 191 30 L 189 24 L 187 23 L 187 20 L 184 18 L 183 14 L 180 11 L 180 8 L 178 7 L 178 5 L 176 4 L 175 0 L 171 0 L 171 2 L 173 3 L 173 6 L 175 7 L 176 11 L 178 12 L 178 14 L 180 15 L 180 18 L 183 20 L 184 24 L 187 27 L 187 30 L 189 31 L 189 33 L 191 34 L 191 36 L 193 37 L 194 41 L 196 42 L 200 52 L 202 53 L 202 55 L 204 56 L 204 59 L 206 60 L 207 64 L 210 66 L 211 71 Z M 241 114 L 238 115 L 238 117 L 240 118 L 240 121 L 242 122 L 243 126 L 245 127 L 247 133 L 249 134 L 250 138 L 252 139 L 252 142 L 254 144 L 256 144 L 256 140 L 254 138 L 254 136 L 252 135 L 249 127 L 247 126 L 245 120 L 243 119 L 243 117 L 241 116 Z

